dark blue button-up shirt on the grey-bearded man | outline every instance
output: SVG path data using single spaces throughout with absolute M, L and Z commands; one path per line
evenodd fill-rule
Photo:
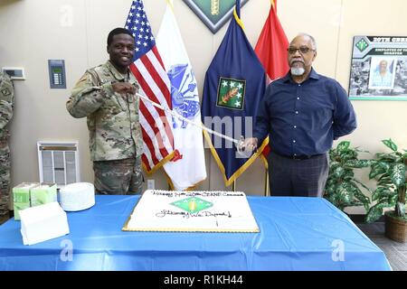
M 253 136 L 260 145 L 269 134 L 277 154 L 325 154 L 334 139 L 356 128 L 355 110 L 335 79 L 311 70 L 298 84 L 290 73 L 268 86 L 260 102 Z

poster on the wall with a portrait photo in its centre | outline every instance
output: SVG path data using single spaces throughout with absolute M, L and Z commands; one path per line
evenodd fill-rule
M 407 100 L 407 36 L 355 36 L 350 99 Z

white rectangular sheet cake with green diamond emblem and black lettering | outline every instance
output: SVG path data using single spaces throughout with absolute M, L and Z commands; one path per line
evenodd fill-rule
M 242 191 L 143 193 L 123 230 L 259 232 Z

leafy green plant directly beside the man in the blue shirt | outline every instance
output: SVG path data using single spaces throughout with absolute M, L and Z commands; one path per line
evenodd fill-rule
M 362 182 L 355 179 L 355 168 L 370 166 L 370 160 L 360 160 L 358 153 L 364 151 L 350 147 L 350 142 L 341 142 L 329 151 L 329 174 L 324 197 L 339 210 L 351 206 L 364 206 L 369 210 L 370 200 L 361 188 L 371 193 Z M 367 152 L 364 152 L 367 153 Z

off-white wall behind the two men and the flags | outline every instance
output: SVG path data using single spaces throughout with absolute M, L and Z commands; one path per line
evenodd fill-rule
M 204 73 L 227 29 L 212 34 L 181 0 L 175 15 L 192 61 L 200 92 Z M 114 27 L 124 25 L 130 0 L 3 0 L 0 2 L 0 67 L 24 67 L 26 80 L 14 81 L 15 114 L 11 125 L 12 184 L 38 181 L 36 142 L 80 142 L 82 181 L 92 182 L 85 119 L 74 119 L 66 109 L 71 88 L 89 67 L 107 60 L 106 38 Z M 147 15 L 157 33 L 166 0 L 145 0 Z M 270 0 L 250 0 L 241 9 L 245 32 L 254 46 L 269 13 Z M 352 39 L 355 35 L 406 36 L 407 2 L 404 0 L 279 0 L 279 19 L 289 39 L 306 32 L 317 39 L 317 72 L 337 79 L 348 88 Z M 71 11 L 71 17 L 70 17 Z M 70 24 L 71 19 L 71 24 Z M 49 89 L 47 60 L 64 59 L 67 89 Z M 353 101 L 359 126 L 343 140 L 372 154 L 384 150 L 380 140 L 392 137 L 407 147 L 406 101 Z M 224 188 L 212 155 L 206 151 L 208 179 L 198 189 Z M 365 174 L 361 173 L 361 174 Z M 162 172 L 152 176 L 166 189 Z M 361 175 L 365 180 L 365 176 Z M 264 192 L 260 161 L 237 181 L 237 190 Z

